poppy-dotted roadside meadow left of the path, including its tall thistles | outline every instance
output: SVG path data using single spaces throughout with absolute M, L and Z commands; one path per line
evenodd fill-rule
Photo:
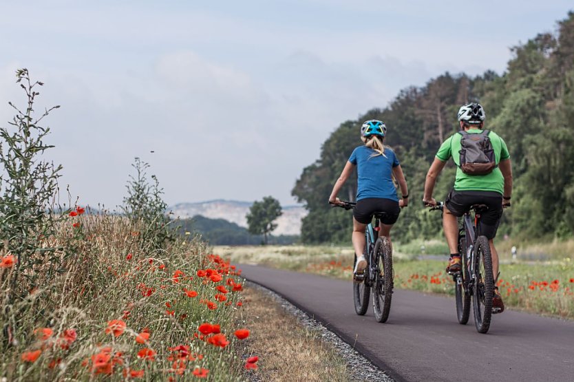
M 41 82 L 0 134 L 0 379 L 234 381 L 245 354 L 241 270 L 178 236 L 136 160 L 124 213 L 59 204 L 62 168 L 43 161 Z

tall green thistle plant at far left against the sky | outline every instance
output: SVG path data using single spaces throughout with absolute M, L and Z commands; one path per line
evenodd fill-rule
M 56 223 L 64 218 L 59 211 L 54 213 L 62 167 L 41 159 L 54 147 L 44 142 L 50 129 L 41 122 L 59 106 L 36 117 L 34 103 L 43 83 L 30 80 L 26 69 L 17 70 L 16 76 L 27 104 L 21 108 L 8 103 L 16 115 L 8 127 L 0 127 L 0 257 L 12 262 L 0 268 L 0 321 L 4 323 L 17 316 L 10 312 L 16 301 L 38 286 L 50 285 L 69 252 L 53 240 Z

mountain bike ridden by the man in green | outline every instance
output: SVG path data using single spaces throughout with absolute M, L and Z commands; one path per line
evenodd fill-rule
M 431 208 L 443 211 L 440 202 Z M 463 215 L 463 223 L 458 229 L 458 253 L 462 260 L 460 272 L 454 273 L 454 291 L 456 299 L 456 317 L 465 325 L 470 315 L 470 300 L 474 312 L 474 325 L 479 333 L 490 328 L 493 313 L 492 297 L 494 279 L 492 274 L 492 255 L 486 236 L 480 235 L 480 214 L 488 209 L 484 204 L 474 204 Z M 474 212 L 474 221 L 471 217 Z

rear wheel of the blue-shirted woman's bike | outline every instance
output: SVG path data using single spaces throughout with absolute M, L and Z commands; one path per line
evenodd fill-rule
M 374 258 L 379 268 L 374 275 L 373 284 L 374 318 L 376 321 L 386 322 L 391 310 L 393 288 L 392 249 L 387 237 L 379 237 L 376 240 Z

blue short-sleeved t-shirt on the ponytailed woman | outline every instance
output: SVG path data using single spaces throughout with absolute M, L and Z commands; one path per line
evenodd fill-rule
M 396 200 L 396 188 L 392 182 L 392 169 L 399 165 L 394 151 L 385 147 L 385 155 L 366 146 L 353 150 L 349 162 L 357 166 L 357 200 L 365 198 L 385 198 Z

